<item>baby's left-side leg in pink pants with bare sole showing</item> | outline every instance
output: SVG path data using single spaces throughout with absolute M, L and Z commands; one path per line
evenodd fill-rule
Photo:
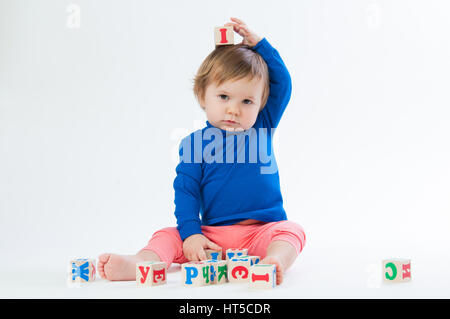
M 97 268 L 104 279 L 136 280 L 136 263 L 139 261 L 164 261 L 167 268 L 173 261 L 185 262 L 178 230 L 168 227 L 155 232 L 147 246 L 136 255 L 102 254 L 98 257 Z

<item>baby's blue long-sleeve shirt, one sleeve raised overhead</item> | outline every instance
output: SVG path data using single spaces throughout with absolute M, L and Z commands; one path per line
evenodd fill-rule
M 266 61 L 270 79 L 267 103 L 253 127 L 228 132 L 206 121 L 181 141 L 173 187 L 182 240 L 201 234 L 201 225 L 287 219 L 272 137 L 291 96 L 291 78 L 266 38 L 252 49 Z

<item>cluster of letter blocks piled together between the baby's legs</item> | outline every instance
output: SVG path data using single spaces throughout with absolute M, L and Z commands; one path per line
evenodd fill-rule
M 206 250 L 208 260 L 182 264 L 183 285 L 206 286 L 225 282 L 248 282 L 252 288 L 273 288 L 276 284 L 275 265 L 260 265 L 258 256 L 248 256 L 248 249 Z M 220 257 L 220 258 L 219 258 Z

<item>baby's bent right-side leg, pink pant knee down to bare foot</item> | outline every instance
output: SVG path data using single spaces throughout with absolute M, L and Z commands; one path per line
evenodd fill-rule
M 303 228 L 291 221 L 268 223 L 260 226 L 251 239 L 255 255 L 264 256 L 260 263 L 274 264 L 277 284 L 283 282 L 285 271 L 294 263 L 305 245 Z M 265 251 L 264 251 L 265 250 Z

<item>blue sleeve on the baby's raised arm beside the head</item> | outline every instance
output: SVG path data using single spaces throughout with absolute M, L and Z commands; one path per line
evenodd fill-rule
M 261 115 L 270 128 L 276 128 L 291 98 L 291 76 L 278 51 L 266 38 L 259 41 L 252 49 L 262 56 L 269 69 L 270 93 Z

